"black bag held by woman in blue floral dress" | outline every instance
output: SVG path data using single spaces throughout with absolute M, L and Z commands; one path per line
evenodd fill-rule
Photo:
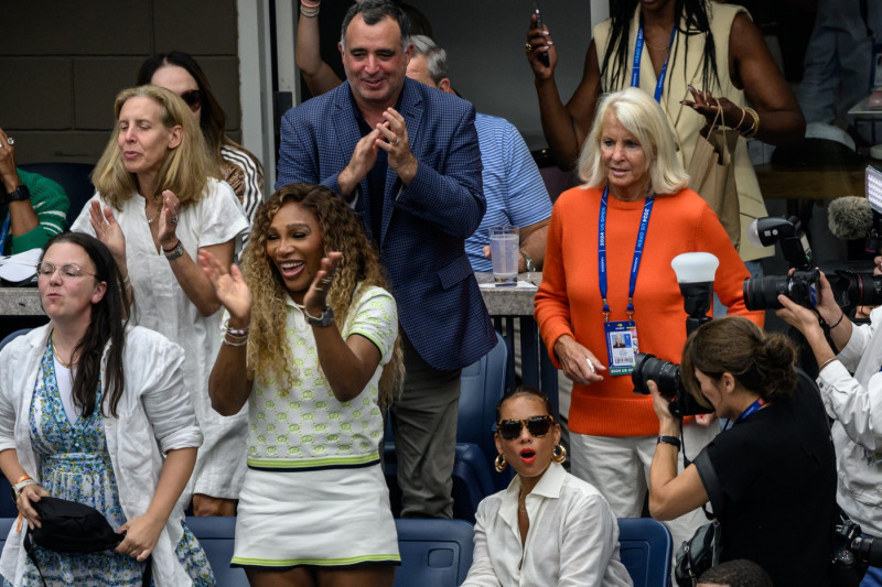
M 36 572 L 46 585 L 36 557 L 34 545 L 64 554 L 99 553 L 115 548 L 126 534 L 114 531 L 107 519 L 85 503 L 45 496 L 31 506 L 40 515 L 40 528 L 29 526 L 24 534 L 24 551 L 36 567 Z M 147 559 L 142 585 L 150 585 L 153 577 L 152 554 Z

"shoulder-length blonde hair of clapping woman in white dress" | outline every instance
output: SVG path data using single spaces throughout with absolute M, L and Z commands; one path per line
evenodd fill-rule
M 114 112 L 119 113 L 131 98 L 149 98 L 160 107 L 160 123 L 166 129 L 181 128 L 181 143 L 169 149 L 157 173 L 152 194 L 141 194 L 146 199 L 160 202 L 162 192 L 171 189 L 182 207 L 198 202 L 205 195 L 208 177 L 219 178 L 219 169 L 208 152 L 205 139 L 193 118 L 190 107 L 173 91 L 159 86 L 138 86 L 123 89 L 117 96 Z M 122 202 L 139 193 L 138 178 L 126 171 L 122 151 L 119 148 L 119 122 L 114 127 L 110 140 L 95 165 L 92 183 L 105 202 L 122 209 Z

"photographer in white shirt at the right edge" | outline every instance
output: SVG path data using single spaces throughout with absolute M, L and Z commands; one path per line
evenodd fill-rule
M 882 274 L 876 257 L 874 275 Z M 837 465 L 837 502 L 871 536 L 882 536 L 882 308 L 870 313 L 870 324 L 858 326 L 837 305 L 827 278 L 820 275 L 815 311 L 779 296 L 776 314 L 806 338 L 820 368 L 818 387 L 827 413 L 835 420 L 831 434 Z M 831 348 L 820 318 L 829 325 Z M 853 373 L 853 374 L 852 374 Z M 863 541 L 860 558 L 878 564 L 880 539 Z M 854 548 L 852 548 L 853 551 Z M 882 585 L 882 568 L 871 567 L 862 586 Z

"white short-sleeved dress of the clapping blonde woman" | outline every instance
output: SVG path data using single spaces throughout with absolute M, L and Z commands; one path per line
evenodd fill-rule
M 182 207 L 178 215 L 178 238 L 194 261 L 201 247 L 229 240 L 234 241 L 238 253 L 241 237 L 248 230 L 241 205 L 225 182 L 209 178 L 206 189 L 208 193 L 202 199 Z M 100 194 L 96 193 L 92 200 L 95 199 L 106 204 Z M 83 207 L 71 230 L 95 235 L 89 222 L 92 200 Z M 187 499 L 195 492 L 235 499 L 245 477 L 248 414 L 243 409 L 234 416 L 222 416 L 212 410 L 208 398 L 208 376 L 220 348 L 223 312 L 204 317 L 186 296 L 165 256 L 157 250 L 140 194 L 132 194 L 114 215 L 126 235 L 126 263 L 135 290 L 131 322 L 157 330 L 186 352 L 184 385 L 193 398 L 205 441 L 191 483 L 182 497 Z

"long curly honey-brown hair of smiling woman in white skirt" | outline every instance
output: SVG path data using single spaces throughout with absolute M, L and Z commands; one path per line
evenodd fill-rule
M 267 236 L 279 209 L 295 203 L 312 213 L 319 222 L 325 252 L 341 251 L 333 284 L 327 293 L 327 305 L 334 311 L 334 322 L 340 327 L 356 300 L 356 289 L 374 285 L 390 291 L 379 262 L 379 254 L 367 239 L 361 219 L 329 188 L 314 184 L 290 184 L 278 189 L 257 209 L 248 246 L 241 257 L 243 274 L 254 300 L 251 306 L 251 336 L 248 340 L 248 373 L 265 378 L 276 377 L 290 387 L 299 374 L 292 369 L 286 320 L 288 290 L 276 264 L 267 256 Z M 400 336 L 395 341 L 392 358 L 383 369 L 379 381 L 379 403 L 385 410 L 401 388 L 404 360 Z

